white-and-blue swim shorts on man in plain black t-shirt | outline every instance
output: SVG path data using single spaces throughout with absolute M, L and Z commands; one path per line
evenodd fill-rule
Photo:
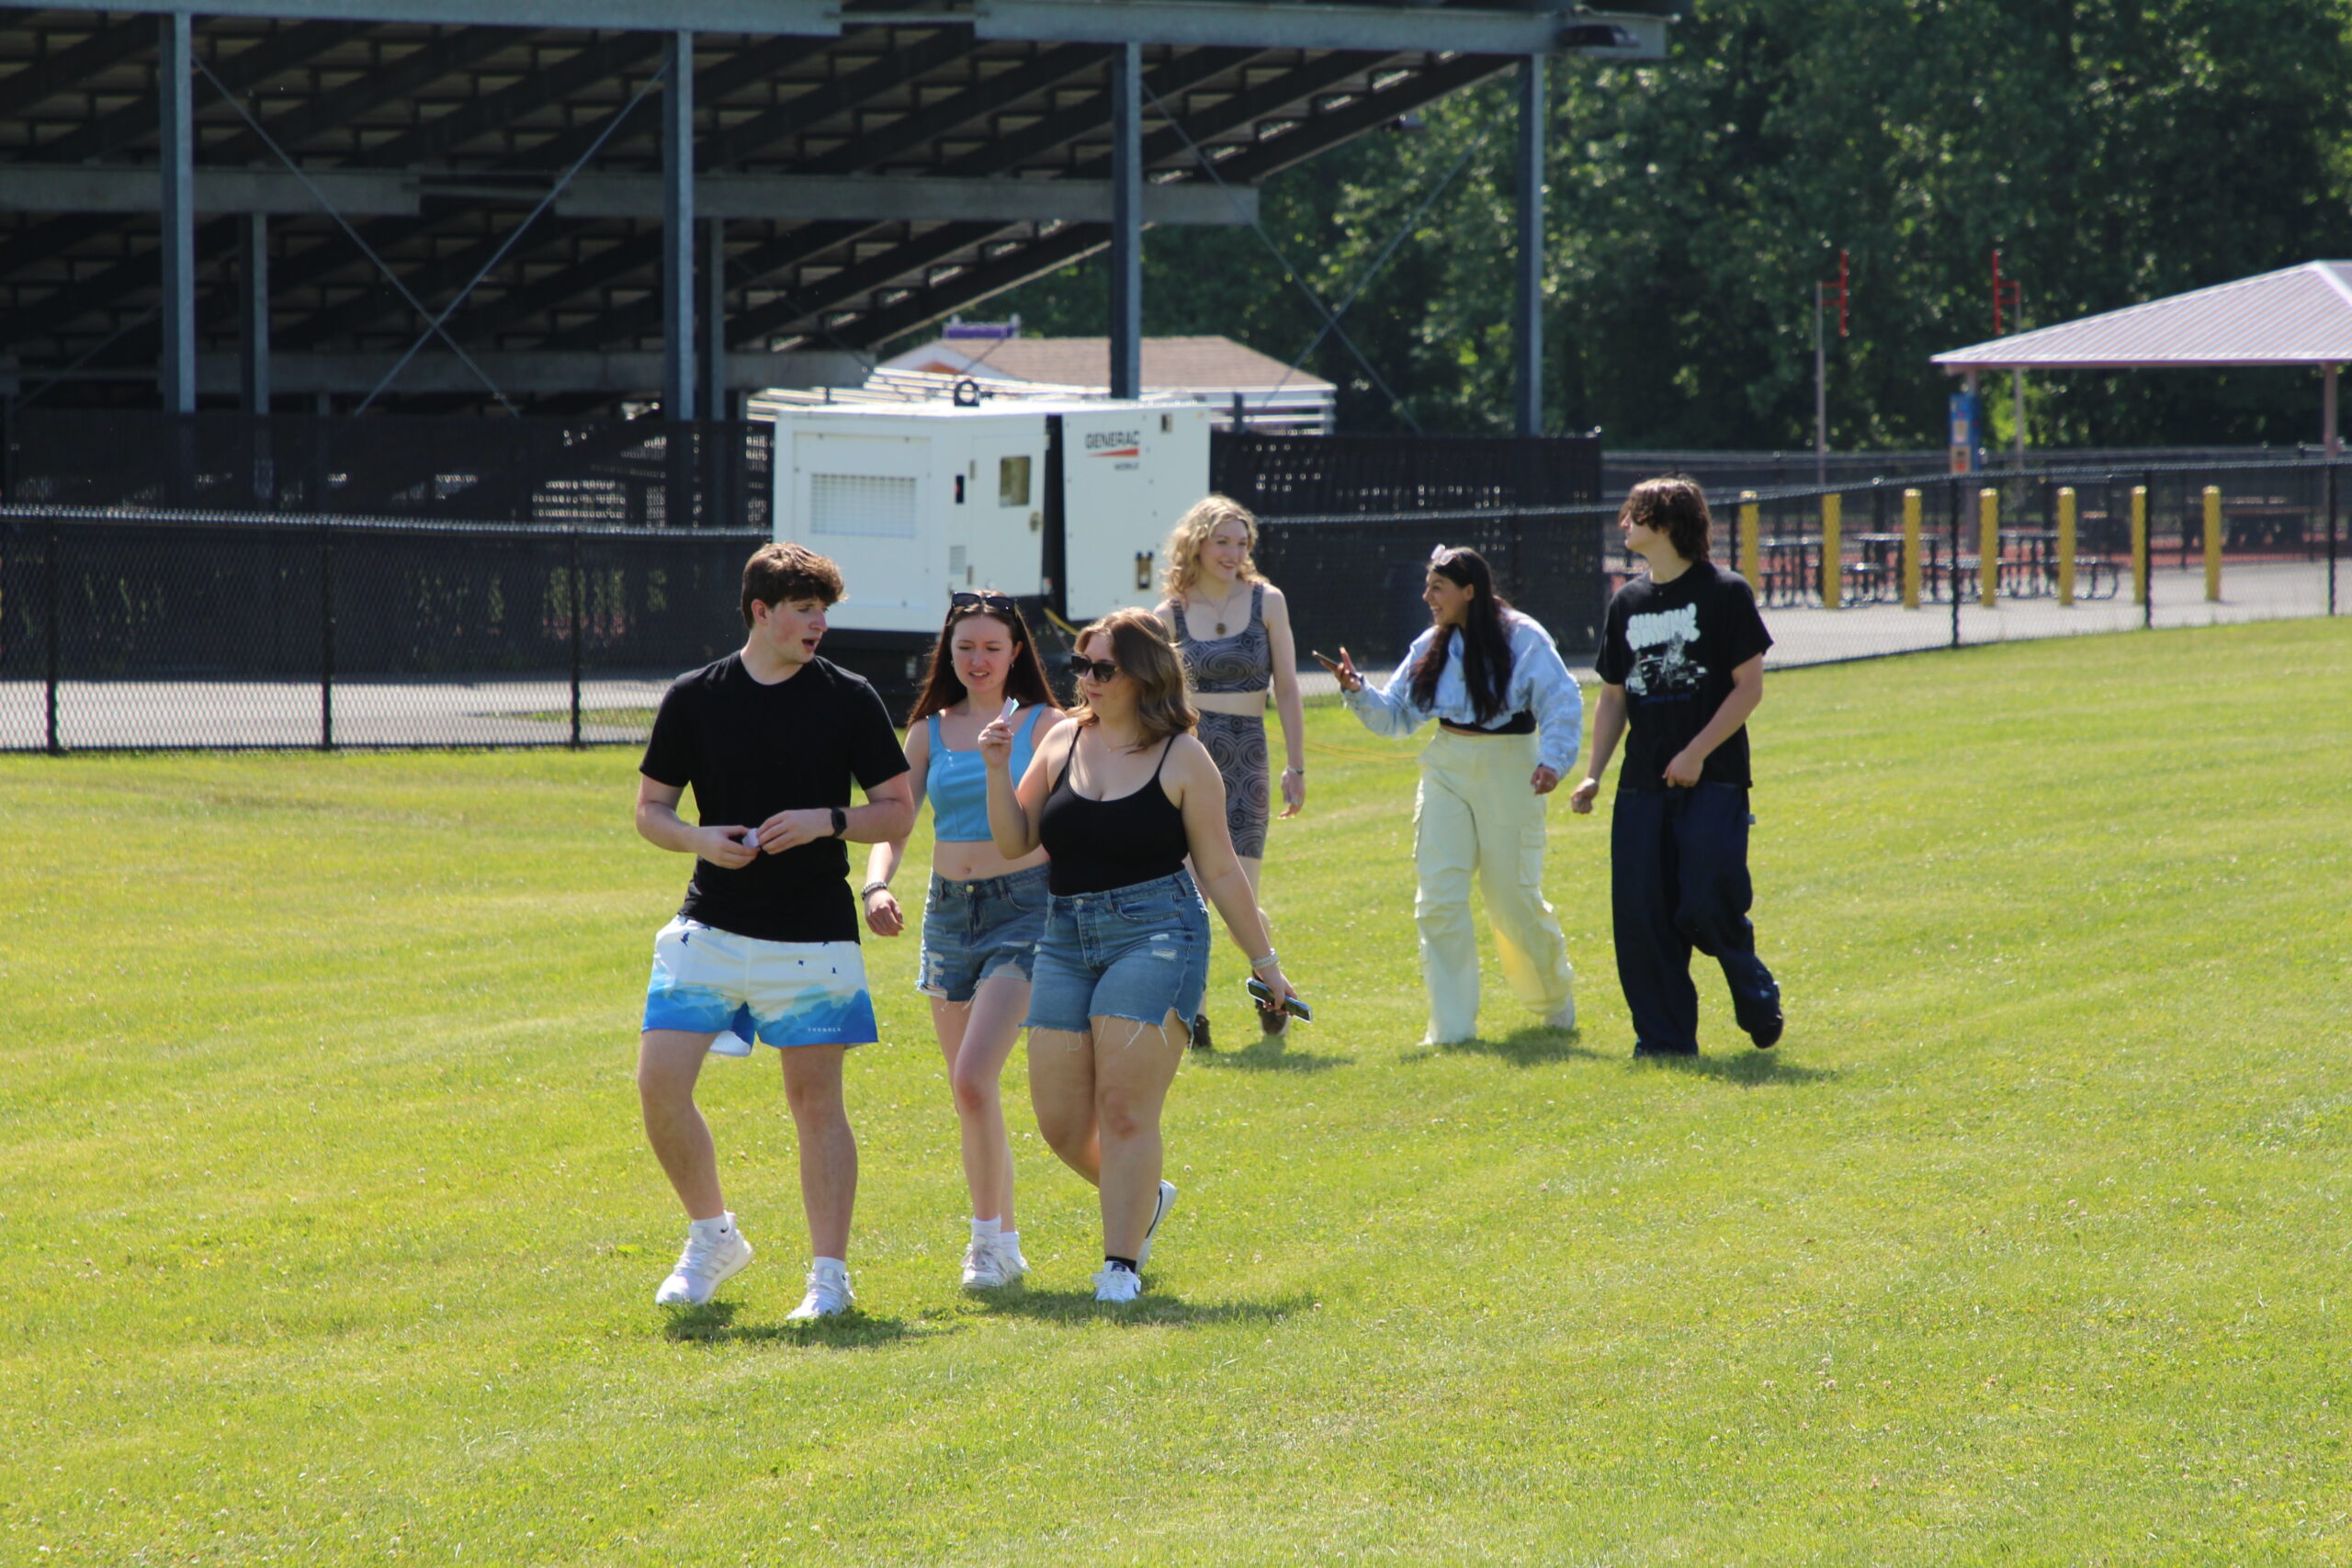
M 675 917 L 654 938 L 644 1027 L 764 1046 L 863 1046 L 880 1039 L 856 943 L 762 943 Z

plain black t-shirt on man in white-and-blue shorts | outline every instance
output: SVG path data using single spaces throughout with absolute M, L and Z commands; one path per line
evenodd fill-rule
M 814 658 L 762 686 L 741 654 L 680 675 L 661 696 L 637 764 L 654 783 L 694 790 L 703 827 L 757 827 L 779 811 L 849 806 L 849 780 L 873 792 L 906 773 L 906 752 L 863 677 Z M 854 943 L 849 846 L 816 839 L 743 870 L 694 860 L 680 914 L 767 943 Z

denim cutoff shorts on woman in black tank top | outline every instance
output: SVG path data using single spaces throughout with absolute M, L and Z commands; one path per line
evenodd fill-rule
M 1030 969 L 1033 1030 L 1087 1030 L 1089 1018 L 1190 1027 L 1209 990 L 1209 910 L 1188 872 L 1108 893 L 1054 893 Z

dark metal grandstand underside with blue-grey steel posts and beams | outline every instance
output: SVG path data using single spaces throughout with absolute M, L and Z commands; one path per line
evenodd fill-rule
M 1143 226 L 1249 223 L 1268 176 L 1496 73 L 1541 94 L 1545 56 L 1656 59 L 1675 9 L 7 7 L 0 395 L 727 418 L 1105 247 L 1131 343 Z

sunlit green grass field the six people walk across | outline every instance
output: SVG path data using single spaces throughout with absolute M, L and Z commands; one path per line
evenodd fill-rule
M 652 1307 L 633 752 L 0 759 L 0 1563 L 2352 1561 L 2352 623 L 1776 675 L 1755 733 L 1788 1041 L 1710 973 L 1637 1065 L 1564 806 L 1583 1034 L 1489 969 L 1414 1044 L 1414 745 L 1317 710 L 1317 1023 L 1185 1063 L 1127 1316 L 1033 1133 L 1033 1288 L 957 1293 L 870 945 L 811 1333 L 764 1053 L 703 1091 L 760 1262 Z

